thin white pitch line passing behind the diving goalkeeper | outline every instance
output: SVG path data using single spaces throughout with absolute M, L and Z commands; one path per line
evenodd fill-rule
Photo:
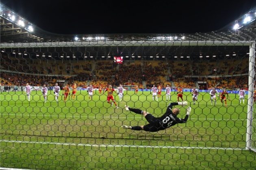
M 103 117 L 100 117 L 100 116 L 65 116 L 65 115 L 23 115 L 23 114 L 5 114 L 5 113 L 1 113 L 1 115 L 11 115 L 11 116 L 35 116 L 35 117 L 38 117 L 38 116 L 41 116 L 41 117 L 76 117 L 76 118 L 118 118 L 118 119 L 141 119 L 143 117 L 116 117 L 116 116 L 103 116 Z M 233 120 L 233 121 L 245 121 L 247 119 L 213 119 L 213 118 L 208 118 L 208 119 L 203 119 L 203 118 L 190 118 L 190 119 L 193 119 L 193 120 L 225 120 L 225 121 L 228 121 L 228 120 Z

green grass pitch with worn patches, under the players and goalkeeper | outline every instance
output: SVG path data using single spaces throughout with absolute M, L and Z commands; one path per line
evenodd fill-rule
M 61 92 L 62 93 L 62 92 Z M 145 125 L 143 116 L 126 112 L 125 105 L 147 110 L 155 117 L 171 101 L 162 93 L 158 102 L 148 91 L 125 91 L 119 108 L 98 91 L 89 99 L 78 91 L 76 100 L 56 103 L 52 91 L 43 102 L 33 91 L 0 94 L 1 167 L 30 169 L 254 169 L 256 153 L 245 150 L 247 104 L 230 94 L 228 106 L 211 105 L 210 95 L 200 93 L 192 103 L 187 123 L 159 132 L 125 130 L 121 125 Z M 245 100 L 247 103 L 247 100 Z M 181 106 L 177 106 L 181 108 Z M 181 108 L 178 117 L 185 116 Z

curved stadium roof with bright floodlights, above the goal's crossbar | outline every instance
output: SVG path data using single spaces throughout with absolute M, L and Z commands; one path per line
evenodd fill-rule
M 255 41 L 256 7 L 221 30 L 194 34 L 54 34 L 0 5 L 1 43 L 108 41 Z

